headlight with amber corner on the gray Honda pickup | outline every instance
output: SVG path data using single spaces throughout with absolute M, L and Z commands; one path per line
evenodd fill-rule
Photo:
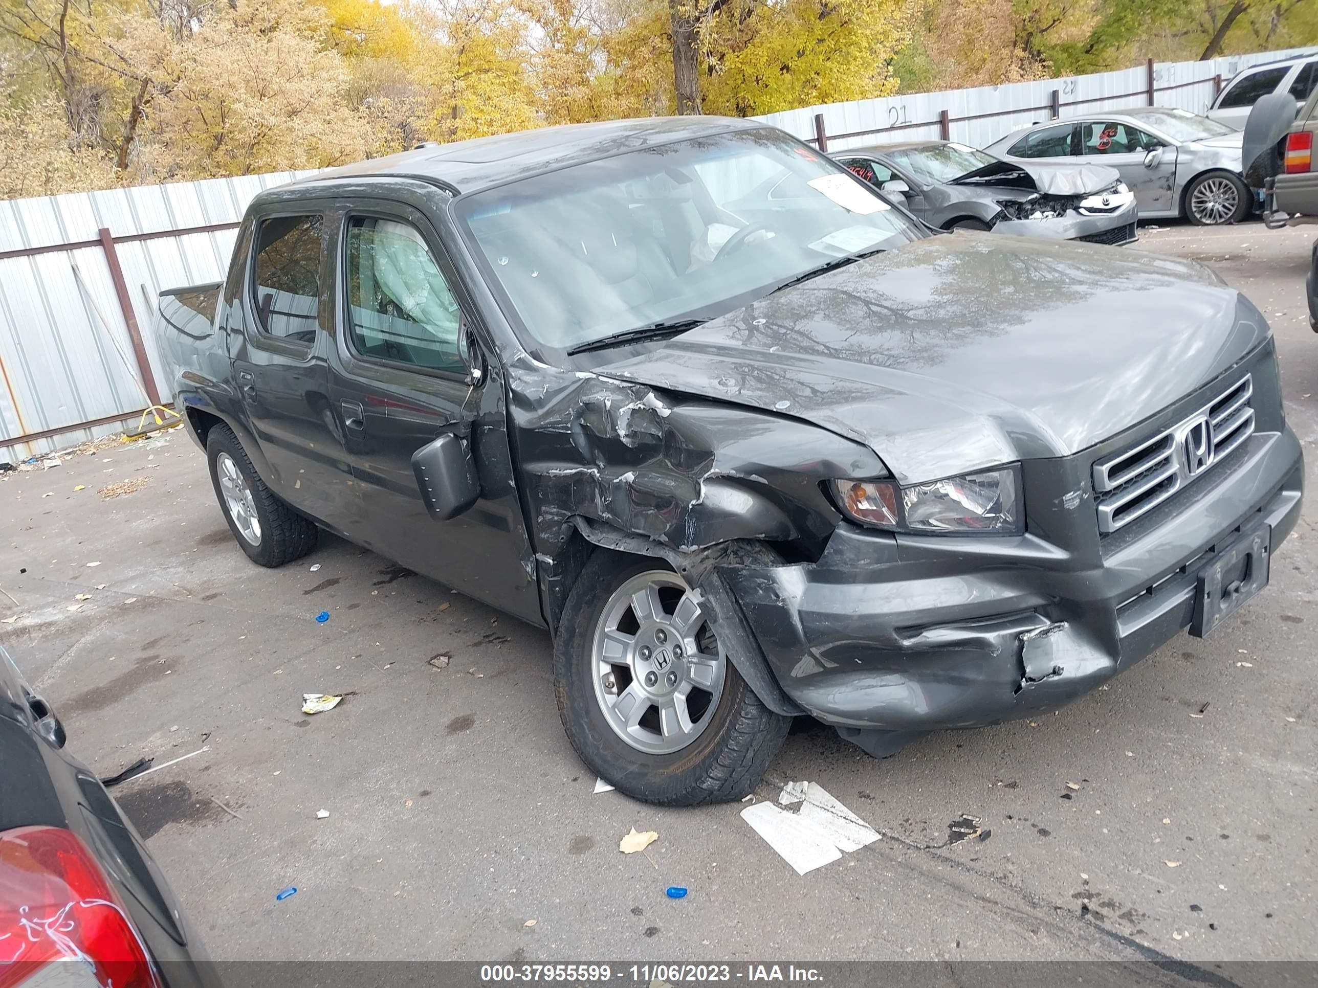
M 833 493 L 844 515 L 873 528 L 956 535 L 1024 531 L 1019 466 L 909 487 L 896 481 L 833 481 Z

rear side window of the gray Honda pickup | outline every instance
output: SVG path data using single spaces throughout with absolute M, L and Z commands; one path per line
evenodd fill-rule
M 261 224 L 252 287 L 262 332 L 308 346 L 315 343 L 322 227 L 319 216 L 279 216 Z

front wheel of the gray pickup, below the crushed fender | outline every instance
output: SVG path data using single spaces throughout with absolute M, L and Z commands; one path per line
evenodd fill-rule
M 554 692 L 587 767 L 662 806 L 742 798 L 791 726 L 737 672 L 677 573 L 614 552 L 596 552 L 568 595 Z

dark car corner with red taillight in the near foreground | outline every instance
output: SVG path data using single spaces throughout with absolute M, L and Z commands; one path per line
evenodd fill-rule
M 217 988 L 132 823 L 0 647 L 0 985 Z

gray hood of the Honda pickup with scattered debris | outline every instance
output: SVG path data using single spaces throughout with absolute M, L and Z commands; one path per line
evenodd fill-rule
M 903 483 L 1075 453 L 1268 336 L 1201 265 L 936 236 L 766 296 L 596 373 L 822 425 Z

